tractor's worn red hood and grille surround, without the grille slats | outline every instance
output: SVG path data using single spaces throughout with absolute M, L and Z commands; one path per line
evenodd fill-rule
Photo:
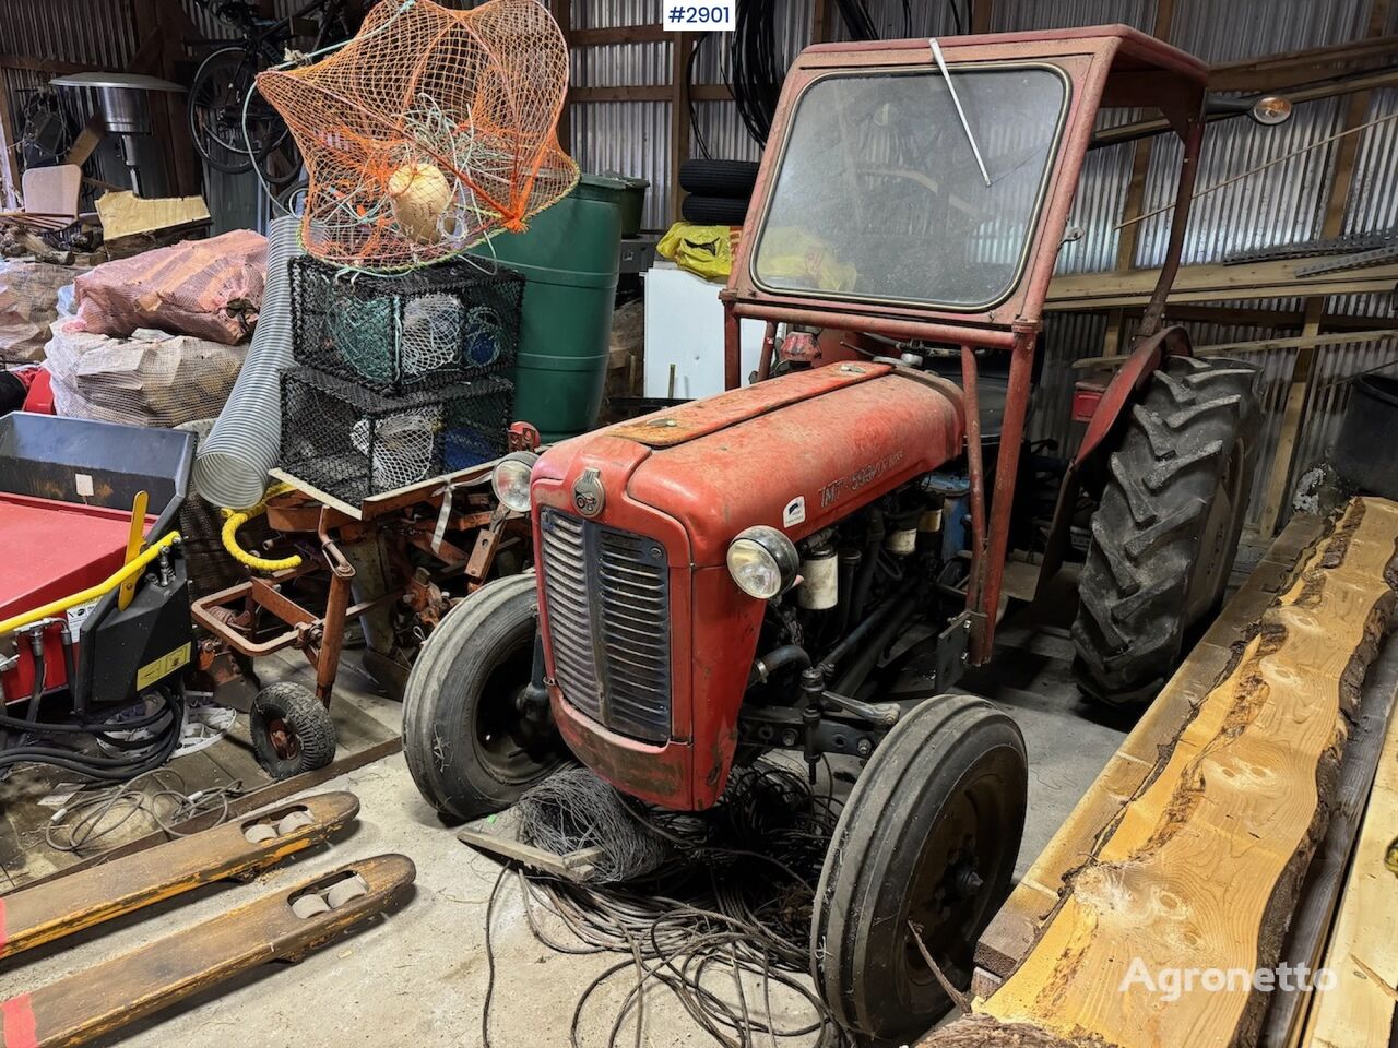
M 594 468 L 607 492 L 598 520 L 660 542 L 670 562 L 671 742 L 608 732 L 549 689 L 565 741 L 618 788 L 681 809 L 707 808 L 723 791 L 765 612 L 728 576 L 737 532 L 769 524 L 800 541 L 960 453 L 955 386 L 888 365 L 857 365 L 858 374 L 846 367 L 798 372 L 598 430 L 535 464 L 535 549 L 537 510 L 575 513 L 572 485 Z M 651 447 L 629 436 L 657 418 L 684 419 L 674 429 L 686 439 Z M 805 500 L 804 517 L 784 524 L 794 497 Z M 552 678 L 545 573 L 540 627 Z

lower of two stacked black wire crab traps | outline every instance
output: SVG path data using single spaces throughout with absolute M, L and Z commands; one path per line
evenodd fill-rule
M 350 506 L 505 454 L 514 386 L 384 397 L 313 367 L 281 377 L 281 470 Z

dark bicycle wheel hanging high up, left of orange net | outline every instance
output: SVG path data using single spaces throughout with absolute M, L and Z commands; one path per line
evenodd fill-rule
M 257 60 L 242 48 L 215 50 L 194 74 L 189 89 L 189 130 L 194 148 L 215 170 L 242 175 L 253 159 L 266 157 L 288 137 L 287 124 L 260 96 L 247 102 L 243 133 L 243 101 L 256 91 Z

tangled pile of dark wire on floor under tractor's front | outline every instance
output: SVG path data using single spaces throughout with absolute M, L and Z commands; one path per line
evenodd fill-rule
M 535 787 L 516 813 L 528 843 L 559 852 L 605 844 L 612 858 L 587 885 L 500 872 L 487 911 L 484 1045 L 491 1045 L 496 978 L 491 926 L 510 883 L 519 885 L 530 929 L 542 945 L 568 954 L 624 956 L 579 996 L 569 1027 L 573 1048 L 580 1048 L 589 1002 L 615 980 L 630 985 L 612 1019 L 608 1048 L 624 1040 L 639 1048 L 647 991 L 656 985 L 724 1045 L 748 1048 L 759 1037 L 762 1044 L 850 1044 L 805 980 L 811 905 L 839 805 L 818 795 L 800 770 L 768 762 L 734 769 L 721 802 L 702 813 L 640 805 L 590 771 L 568 771 Z M 596 883 L 603 879 L 610 883 Z M 561 924 L 569 935 L 545 924 Z M 788 1002 L 800 1002 L 804 1019 L 777 1021 L 773 985 Z

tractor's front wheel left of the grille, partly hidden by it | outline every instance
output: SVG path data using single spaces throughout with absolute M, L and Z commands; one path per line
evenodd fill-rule
M 432 632 L 403 693 L 403 752 L 422 796 L 449 819 L 509 808 L 570 762 L 548 715 L 524 703 L 538 629 L 534 573 L 457 604 Z

